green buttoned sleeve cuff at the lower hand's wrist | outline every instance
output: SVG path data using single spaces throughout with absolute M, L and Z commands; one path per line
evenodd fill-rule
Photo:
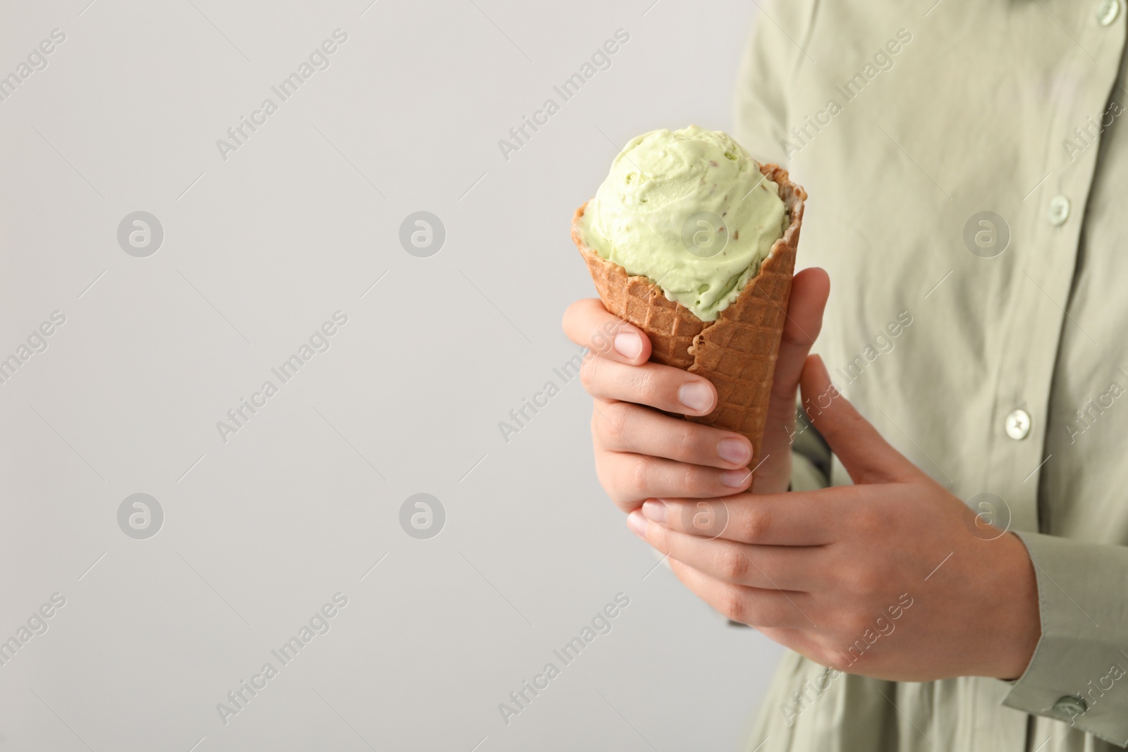
M 1003 704 L 1128 745 L 1128 547 L 1017 532 L 1042 636 Z

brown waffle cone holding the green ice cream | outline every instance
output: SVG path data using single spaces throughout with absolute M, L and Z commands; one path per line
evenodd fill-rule
M 688 308 L 668 300 L 644 276 L 629 276 L 618 264 L 599 256 L 583 242 L 580 218 L 572 220 L 572 240 L 588 264 L 596 290 L 608 311 L 646 333 L 650 360 L 699 373 L 716 387 L 717 406 L 708 415 L 688 417 L 695 423 L 743 434 L 752 443 L 750 468 L 760 463 L 772 377 L 795 273 L 799 230 L 807 192 L 787 179 L 787 170 L 761 165 L 760 171 L 779 186 L 779 197 L 791 219 L 740 295 L 715 321 L 702 321 Z

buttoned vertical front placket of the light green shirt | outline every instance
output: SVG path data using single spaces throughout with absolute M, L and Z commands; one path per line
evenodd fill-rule
M 1038 477 L 1054 461 L 1045 453 L 1046 425 L 1060 340 L 1086 336 L 1066 311 L 1099 149 L 1094 143 L 1070 161 L 1064 140 L 1076 140 L 1075 127 L 1100 120 L 1125 36 L 1125 0 L 1043 5 L 1066 23 L 1076 24 L 1081 16 L 1085 33 L 1073 39 L 1072 54 L 1056 67 L 1057 106 L 1049 116 L 1047 143 L 1030 143 L 1026 150 L 1042 154 L 1046 177 L 1021 202 L 1014 233 L 1020 260 L 990 415 L 988 477 L 1006 503 L 1002 513 L 1011 529 L 1028 531 L 1039 530 Z M 1064 28 L 1061 33 L 1068 34 Z

